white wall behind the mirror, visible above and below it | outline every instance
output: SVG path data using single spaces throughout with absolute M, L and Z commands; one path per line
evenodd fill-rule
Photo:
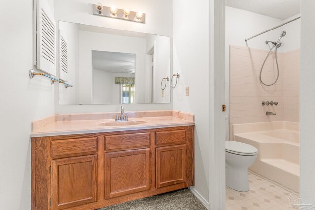
M 116 5 L 118 8 L 126 8 L 134 11 L 141 10 L 146 13 L 146 24 L 130 21 L 116 20 L 92 15 L 92 4 L 100 1 L 103 5 Z M 81 23 L 113 29 L 130 30 L 172 36 L 172 1 L 170 0 L 54 0 L 55 18 L 73 23 Z M 69 9 L 71 8 L 71 9 Z M 162 11 L 162 13 L 161 13 Z M 58 91 L 55 91 L 58 98 Z M 172 103 L 168 104 L 126 104 L 125 110 L 158 110 L 172 109 Z M 117 105 L 59 105 L 55 100 L 56 113 L 75 112 L 104 112 L 119 111 Z

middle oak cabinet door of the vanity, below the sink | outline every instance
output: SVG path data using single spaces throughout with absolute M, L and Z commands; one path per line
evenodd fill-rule
M 150 149 L 105 154 L 106 198 L 150 189 Z

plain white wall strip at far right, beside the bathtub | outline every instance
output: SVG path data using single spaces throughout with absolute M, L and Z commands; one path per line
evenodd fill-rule
M 315 1 L 301 1 L 300 196 L 315 204 Z

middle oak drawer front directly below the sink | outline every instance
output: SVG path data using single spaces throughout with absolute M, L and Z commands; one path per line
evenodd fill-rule
M 150 147 L 150 133 L 105 136 L 105 150 L 130 150 Z

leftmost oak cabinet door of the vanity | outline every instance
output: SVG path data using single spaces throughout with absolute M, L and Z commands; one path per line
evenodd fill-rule
M 52 161 L 52 209 L 96 201 L 97 155 Z

